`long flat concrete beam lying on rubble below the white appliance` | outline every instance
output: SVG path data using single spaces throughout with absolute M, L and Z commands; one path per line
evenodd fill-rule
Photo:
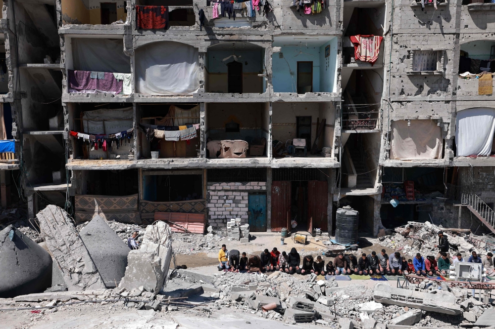
M 427 293 L 409 289 L 393 288 L 387 284 L 376 284 L 373 288 L 376 302 L 419 308 L 450 315 L 460 314 L 460 305 L 455 304 L 455 296 L 447 292 Z

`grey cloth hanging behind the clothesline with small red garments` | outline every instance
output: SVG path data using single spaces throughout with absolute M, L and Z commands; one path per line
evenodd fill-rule
M 116 110 L 99 109 L 86 111 L 83 113 L 82 118 L 84 132 L 98 135 L 113 134 L 131 129 L 133 126 L 133 115 L 132 106 Z M 109 121 L 102 121 L 102 119 Z

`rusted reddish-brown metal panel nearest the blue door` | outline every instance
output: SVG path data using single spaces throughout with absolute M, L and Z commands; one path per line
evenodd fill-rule
M 280 232 L 283 227 L 290 231 L 291 219 L 291 182 L 273 181 L 272 232 Z

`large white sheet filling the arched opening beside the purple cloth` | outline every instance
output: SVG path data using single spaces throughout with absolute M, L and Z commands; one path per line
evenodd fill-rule
M 143 95 L 192 95 L 199 89 L 198 49 L 179 42 L 138 48 L 136 89 Z

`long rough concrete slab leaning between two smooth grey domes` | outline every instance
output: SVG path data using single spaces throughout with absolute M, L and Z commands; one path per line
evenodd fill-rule
M 49 205 L 36 215 L 42 235 L 69 290 L 105 288 L 88 249 L 62 208 Z

